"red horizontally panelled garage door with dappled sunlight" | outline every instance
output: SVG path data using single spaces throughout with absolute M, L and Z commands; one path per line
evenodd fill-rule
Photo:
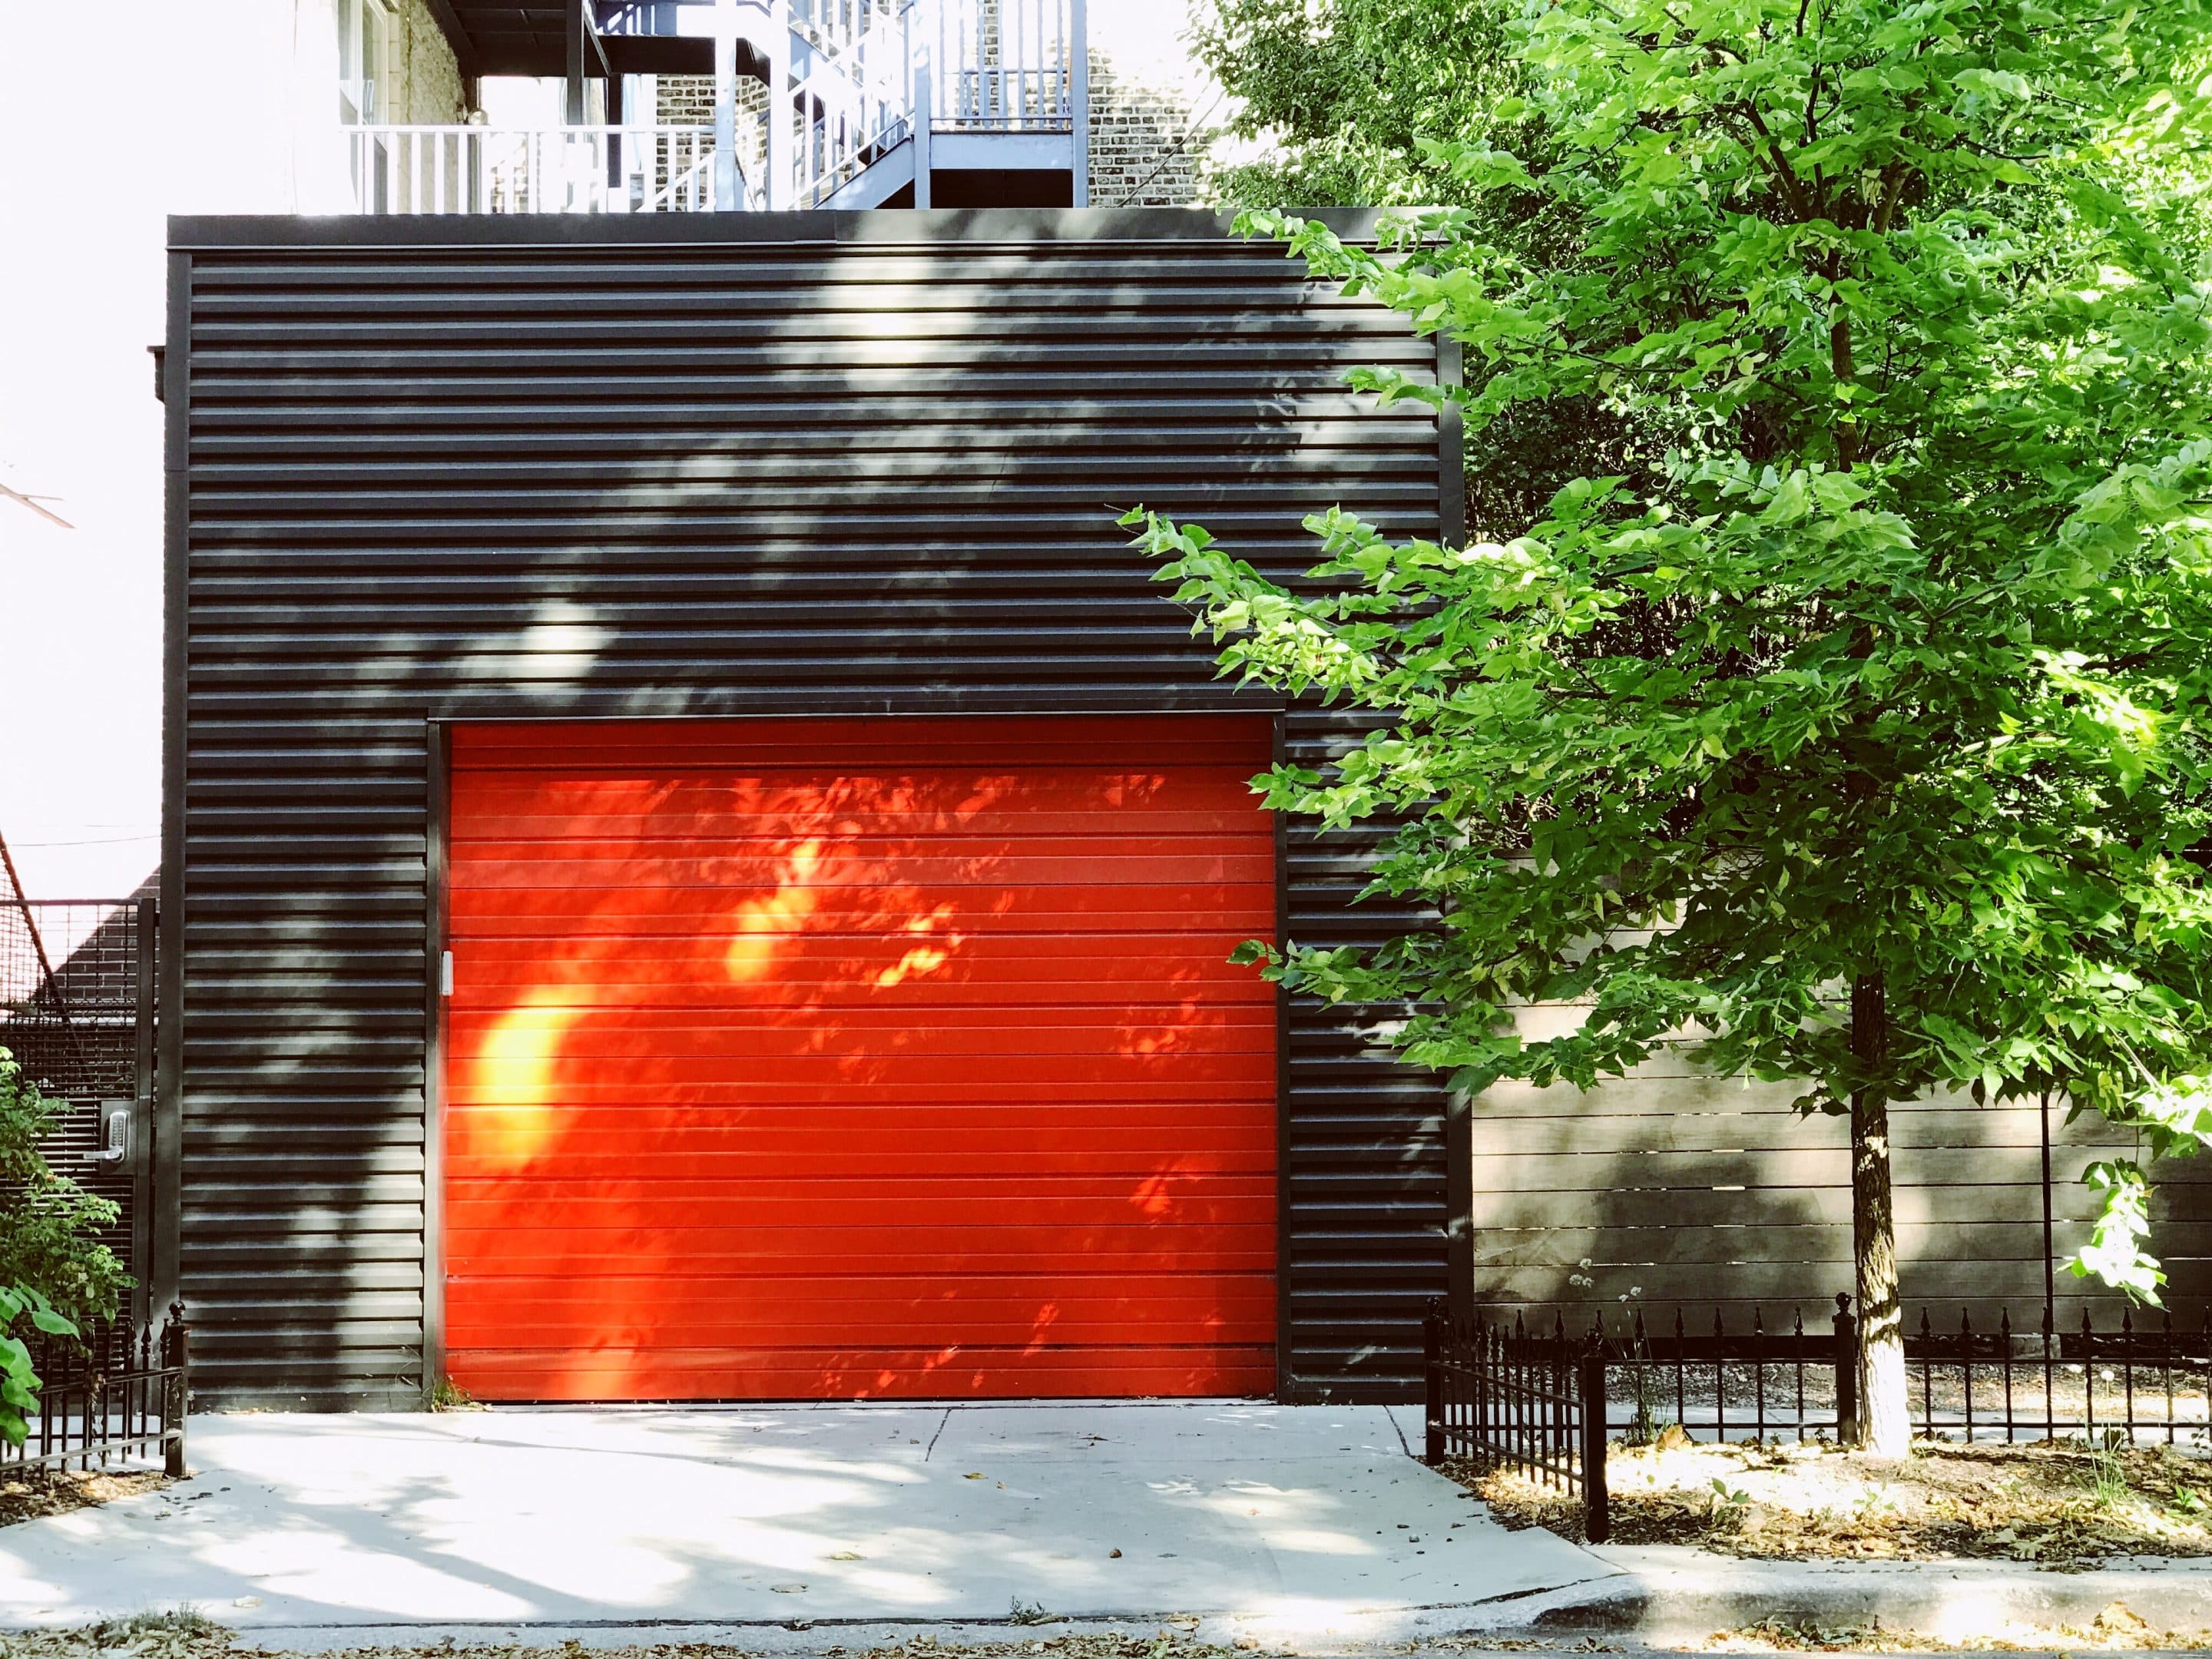
M 458 732 L 453 1380 L 1270 1391 L 1265 761 L 1243 717 Z

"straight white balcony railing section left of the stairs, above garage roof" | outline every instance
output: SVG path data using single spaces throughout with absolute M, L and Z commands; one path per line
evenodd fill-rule
M 349 126 L 358 212 L 714 212 L 712 126 Z M 739 204 L 728 204 L 739 206 Z

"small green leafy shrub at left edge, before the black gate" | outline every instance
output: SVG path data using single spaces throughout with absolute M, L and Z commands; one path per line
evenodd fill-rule
M 53 1102 L 0 1048 L 0 1436 L 18 1447 L 40 1387 L 24 1334 L 77 1336 L 113 1318 L 131 1283 L 97 1237 L 115 1206 L 46 1164 L 53 1121 Z

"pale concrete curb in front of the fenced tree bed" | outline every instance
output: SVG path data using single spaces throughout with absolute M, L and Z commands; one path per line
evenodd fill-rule
M 2088 1630 L 2115 1601 L 2154 1630 L 2205 1632 L 2212 1646 L 2212 1562 L 2132 1559 L 2084 1573 L 2011 1562 L 1750 1562 L 1688 1544 L 1599 1546 L 1619 1568 L 1579 1590 L 1515 1608 L 1524 1635 L 1604 1635 L 1650 1644 L 1701 1641 L 1761 1619 L 1867 1626 L 1936 1641 Z M 1498 1608 L 1506 1613 L 1506 1608 Z M 1506 1635 L 1504 1624 L 1467 1635 Z

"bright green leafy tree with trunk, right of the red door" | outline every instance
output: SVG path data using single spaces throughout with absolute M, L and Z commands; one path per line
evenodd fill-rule
M 1416 1004 L 1407 1057 L 1467 1088 L 1588 1088 L 1686 1031 L 1721 1073 L 1803 1079 L 1849 1119 L 1885 1453 L 1891 1102 L 2057 1091 L 2154 1155 L 2212 1139 L 2208 22 L 1533 0 L 1526 108 L 1493 122 L 1542 155 L 1433 142 L 1475 206 L 1380 252 L 1250 226 L 1462 341 L 1464 387 L 1356 376 L 1385 400 L 1458 405 L 1475 442 L 1597 400 L 1619 465 L 1464 549 L 1318 518 L 1290 586 L 1141 520 L 1225 672 L 1378 714 L 1270 803 L 1405 814 L 1376 887 L 1444 916 L 1248 953 Z M 1526 1000 L 1590 1013 L 1528 1042 Z M 2154 1298 L 2143 1170 L 2090 1179 L 2075 1270 Z

